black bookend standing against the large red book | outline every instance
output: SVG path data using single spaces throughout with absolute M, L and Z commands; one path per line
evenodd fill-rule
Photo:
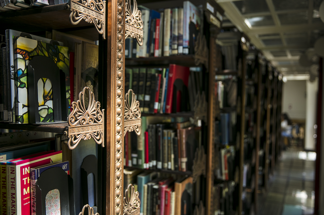
M 180 92 L 180 104 L 177 101 L 177 94 Z M 188 87 L 183 83 L 183 80 L 177 78 L 173 83 L 173 94 L 172 94 L 172 113 L 177 112 L 177 106 L 180 105 L 180 111 L 189 111 L 189 92 Z

